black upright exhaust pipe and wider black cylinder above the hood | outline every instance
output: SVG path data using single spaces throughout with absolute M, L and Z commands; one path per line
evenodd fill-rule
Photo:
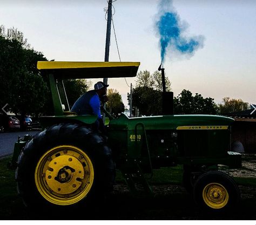
M 166 91 L 165 85 L 165 73 L 164 68 L 161 67 L 162 64 L 158 67 L 158 71 L 161 71 L 162 84 L 163 84 L 163 93 L 162 93 L 162 111 L 163 115 L 173 115 L 173 92 Z

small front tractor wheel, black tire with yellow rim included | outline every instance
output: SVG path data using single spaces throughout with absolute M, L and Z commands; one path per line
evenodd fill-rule
M 238 203 L 240 191 L 227 174 L 207 172 L 199 176 L 194 185 L 194 199 L 201 208 L 223 212 Z

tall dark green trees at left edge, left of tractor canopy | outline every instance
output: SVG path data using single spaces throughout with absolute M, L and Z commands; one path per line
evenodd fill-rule
M 0 106 L 6 103 L 16 114 L 38 114 L 49 92 L 37 70 L 41 52 L 29 49 L 23 33 L 0 26 Z

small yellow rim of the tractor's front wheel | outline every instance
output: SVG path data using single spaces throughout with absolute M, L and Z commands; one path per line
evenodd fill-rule
M 210 183 L 203 190 L 203 199 L 207 206 L 221 209 L 228 202 L 228 193 L 226 188 L 219 183 Z

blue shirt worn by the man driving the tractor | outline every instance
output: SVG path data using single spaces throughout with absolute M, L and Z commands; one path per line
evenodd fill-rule
M 100 114 L 100 100 L 95 90 L 88 91 L 80 96 L 71 108 L 71 112 L 76 112 L 78 115 L 98 115 Z

